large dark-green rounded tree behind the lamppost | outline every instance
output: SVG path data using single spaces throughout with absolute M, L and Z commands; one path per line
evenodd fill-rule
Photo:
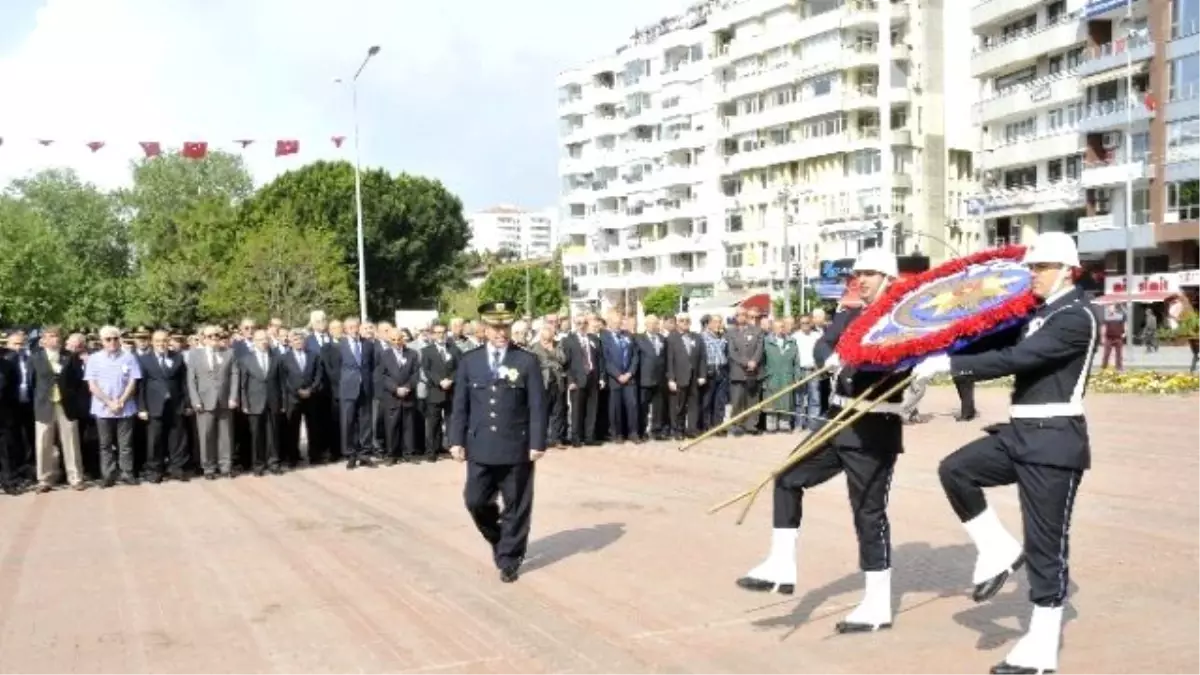
M 444 288 L 462 279 L 458 256 L 470 238 L 462 202 L 427 178 L 368 169 L 361 180 L 368 312 L 433 305 Z M 247 202 L 245 217 L 329 228 L 356 277 L 354 203 L 354 167 L 322 161 L 263 186 Z

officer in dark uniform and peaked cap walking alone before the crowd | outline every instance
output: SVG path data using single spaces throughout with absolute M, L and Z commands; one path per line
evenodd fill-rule
M 529 543 L 534 462 L 546 454 L 547 418 L 538 358 L 509 340 L 515 307 L 479 307 L 487 342 L 458 364 L 448 431 L 451 456 L 467 462 L 467 510 L 506 584 L 517 580 Z

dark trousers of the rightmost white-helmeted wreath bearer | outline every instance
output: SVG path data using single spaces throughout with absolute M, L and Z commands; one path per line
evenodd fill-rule
M 1010 442 L 1010 441 L 1009 441 Z M 937 467 L 942 488 L 964 522 L 988 508 L 984 488 L 1016 483 L 1025 530 L 1030 601 L 1058 607 L 1067 597 L 1070 512 L 1084 473 L 1013 460 L 1003 432 L 967 443 Z

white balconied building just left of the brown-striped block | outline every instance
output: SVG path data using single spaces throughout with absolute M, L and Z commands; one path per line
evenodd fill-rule
M 989 0 L 971 10 L 982 136 L 970 210 L 989 245 L 1070 232 L 1084 215 L 1084 0 Z

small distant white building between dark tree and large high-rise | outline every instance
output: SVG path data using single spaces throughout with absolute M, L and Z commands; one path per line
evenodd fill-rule
M 558 246 L 558 209 L 538 211 L 500 204 L 467 216 L 468 249 L 516 258 L 544 258 Z

